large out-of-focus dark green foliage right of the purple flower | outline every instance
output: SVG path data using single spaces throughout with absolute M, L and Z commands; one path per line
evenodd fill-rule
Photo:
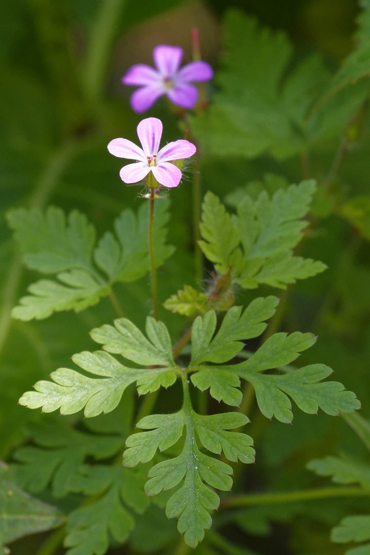
M 367 22 L 367 11 L 363 18 Z M 365 37 L 364 28 L 364 50 L 353 54 L 356 78 L 369 72 Z M 293 64 L 286 34 L 260 28 L 254 18 L 241 12 L 227 13 L 224 45 L 217 75 L 220 92 L 210 109 L 192 120 L 197 138 L 212 154 L 256 158 L 267 152 L 284 159 L 305 152 L 341 133 L 368 95 L 365 79 L 311 114 L 312 106 L 327 96 L 328 89 L 338 89 L 321 57 L 311 54 Z M 339 85 L 351 79 L 351 71 L 346 73 L 344 79 L 337 78 Z

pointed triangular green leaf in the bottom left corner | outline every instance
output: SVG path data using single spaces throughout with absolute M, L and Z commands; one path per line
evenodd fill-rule
M 0 546 L 63 524 L 64 516 L 57 507 L 28 495 L 7 479 L 7 467 L 3 463 L 1 467 Z

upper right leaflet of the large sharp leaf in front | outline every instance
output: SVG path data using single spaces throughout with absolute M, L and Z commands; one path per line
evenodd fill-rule
M 198 316 L 192 325 L 192 354 L 191 365 L 197 366 L 201 362 L 226 362 L 231 360 L 239 351 L 244 349 L 241 339 L 251 339 L 262 334 L 267 324 L 263 320 L 271 318 L 278 304 L 277 297 L 259 297 L 250 303 L 241 314 L 241 306 L 233 306 L 226 312 L 220 330 L 214 339 L 210 341 L 214 326 L 209 327 L 209 333 L 204 334 L 208 322 L 215 322 L 215 314 L 207 312 L 202 320 Z

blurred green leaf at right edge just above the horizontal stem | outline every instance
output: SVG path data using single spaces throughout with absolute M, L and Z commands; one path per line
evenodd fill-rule
M 370 488 L 370 466 L 348 457 L 316 458 L 308 462 L 306 467 L 319 476 L 331 476 L 335 483 L 359 483 L 364 488 Z

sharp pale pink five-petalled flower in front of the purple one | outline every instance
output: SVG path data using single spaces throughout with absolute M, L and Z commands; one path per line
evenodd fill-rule
M 165 187 L 176 187 L 181 180 L 181 171 L 170 160 L 189 158 L 195 151 L 195 145 L 188 140 L 179 139 L 159 149 L 163 125 L 160 119 L 146 118 L 138 125 L 138 137 L 141 146 L 136 147 L 128 139 L 113 139 L 108 145 L 110 154 L 118 158 L 136 160 L 121 168 L 119 175 L 125 183 L 137 183 L 151 171 L 155 179 Z

